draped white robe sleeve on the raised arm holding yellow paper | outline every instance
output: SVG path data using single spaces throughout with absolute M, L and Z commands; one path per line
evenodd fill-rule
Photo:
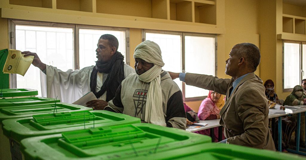
M 47 97 L 73 103 L 90 91 L 90 75 L 94 66 L 66 72 L 47 65 Z

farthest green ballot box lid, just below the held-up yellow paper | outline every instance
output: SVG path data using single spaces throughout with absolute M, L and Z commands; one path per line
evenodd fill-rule
M 0 108 L 7 106 L 18 106 L 18 105 L 36 105 L 44 103 L 54 103 L 55 99 L 45 97 L 26 97 L 26 98 L 6 98 L 0 99 Z M 56 103 L 61 102 L 59 99 Z

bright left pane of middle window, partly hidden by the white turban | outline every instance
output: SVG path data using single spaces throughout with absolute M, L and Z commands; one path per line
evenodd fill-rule
M 162 60 L 165 66 L 162 67 L 165 71 L 181 72 L 181 35 L 175 34 L 158 34 L 146 33 L 146 40 L 157 43 L 162 51 Z M 182 82 L 179 79 L 174 80 L 182 90 Z

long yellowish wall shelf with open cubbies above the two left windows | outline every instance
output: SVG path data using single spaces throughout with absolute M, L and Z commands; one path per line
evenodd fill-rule
M 0 15 L 21 20 L 223 34 L 224 7 L 224 0 L 0 0 Z

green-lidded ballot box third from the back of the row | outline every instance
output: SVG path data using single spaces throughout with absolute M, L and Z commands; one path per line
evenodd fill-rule
M 73 105 L 68 103 L 47 103 L 47 104 L 35 104 L 35 105 L 18 105 L 18 106 L 4 106 L 0 107 L 0 159 L 10 158 L 10 144 L 9 139 L 3 135 L 2 121 L 5 119 L 31 117 L 39 114 L 46 113 L 59 113 L 67 111 L 83 111 L 92 110 L 92 108 L 84 107 L 81 105 Z

